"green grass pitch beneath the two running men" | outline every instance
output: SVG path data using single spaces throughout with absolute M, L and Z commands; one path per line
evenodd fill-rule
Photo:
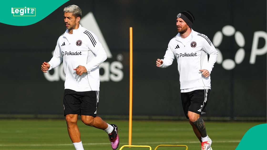
M 117 124 L 120 145 L 128 145 L 128 121 L 106 120 Z M 206 121 L 208 135 L 214 150 L 235 149 L 249 128 L 263 122 L 210 122 Z M 85 150 L 111 150 L 107 134 L 93 127 L 78 126 Z M 0 119 L 0 149 L 73 150 L 65 120 L 4 120 Z M 133 120 L 132 145 L 159 144 L 187 145 L 189 150 L 200 150 L 200 143 L 187 121 L 135 121 Z M 119 150 L 118 148 L 118 150 Z M 123 148 L 123 150 L 149 148 Z M 184 147 L 160 147 L 158 150 L 185 149 Z

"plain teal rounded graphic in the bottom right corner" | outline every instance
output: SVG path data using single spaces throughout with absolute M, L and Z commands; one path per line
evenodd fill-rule
M 260 124 L 250 128 L 242 137 L 235 150 L 247 149 L 267 149 L 267 124 Z

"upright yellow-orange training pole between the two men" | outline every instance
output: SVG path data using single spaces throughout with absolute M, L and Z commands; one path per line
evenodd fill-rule
M 130 27 L 130 98 L 129 98 L 129 145 L 132 145 L 132 104 L 133 104 L 133 28 Z

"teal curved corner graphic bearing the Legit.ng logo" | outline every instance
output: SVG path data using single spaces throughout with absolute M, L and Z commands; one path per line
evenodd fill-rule
M 2 2 L 0 22 L 7 25 L 27 26 L 41 21 L 69 0 L 13 0 Z

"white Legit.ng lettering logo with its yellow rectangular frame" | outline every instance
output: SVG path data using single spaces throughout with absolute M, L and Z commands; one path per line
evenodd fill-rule
M 36 8 L 11 8 L 11 14 L 13 14 L 13 16 L 31 16 L 34 17 L 36 16 Z

